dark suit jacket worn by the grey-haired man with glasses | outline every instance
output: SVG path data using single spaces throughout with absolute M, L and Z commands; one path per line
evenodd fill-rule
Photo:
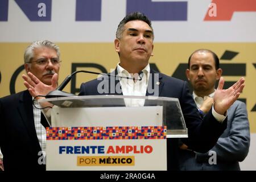
M 38 163 L 41 147 L 28 90 L 0 98 L 0 147 L 5 170 L 46 170 Z

